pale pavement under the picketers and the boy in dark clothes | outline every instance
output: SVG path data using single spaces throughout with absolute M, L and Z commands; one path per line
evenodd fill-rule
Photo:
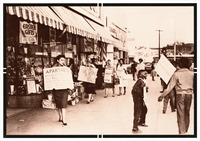
M 67 108 L 67 126 L 58 122 L 57 110 L 31 109 L 6 119 L 6 135 L 132 135 L 133 100 L 131 89 L 135 81 L 130 75 L 127 94 L 104 98 L 104 90 L 97 90 L 94 102 L 87 99 Z M 168 104 L 166 114 L 162 113 L 163 102 L 157 98 L 162 90 L 160 78 L 155 81 L 147 77 L 149 87 L 146 124 L 139 127 L 142 135 L 178 135 L 176 112 Z M 118 90 L 118 88 L 116 88 Z M 116 91 L 117 92 L 117 91 Z M 194 134 L 194 105 L 190 112 L 188 134 Z

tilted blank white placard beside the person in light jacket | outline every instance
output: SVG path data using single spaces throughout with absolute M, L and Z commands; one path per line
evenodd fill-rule
M 167 84 L 172 75 L 174 74 L 174 72 L 176 71 L 176 68 L 170 63 L 170 61 L 164 55 L 161 55 L 161 58 L 155 67 L 155 71 Z

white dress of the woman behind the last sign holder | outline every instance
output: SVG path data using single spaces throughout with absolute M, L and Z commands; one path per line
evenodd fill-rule
M 117 67 L 117 76 L 119 77 L 119 87 L 127 87 L 128 86 L 128 80 L 126 78 L 125 73 L 126 68 L 122 65 L 118 65 Z

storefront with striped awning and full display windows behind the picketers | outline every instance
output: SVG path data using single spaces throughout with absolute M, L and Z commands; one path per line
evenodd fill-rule
M 64 7 L 6 6 L 5 16 L 8 107 L 41 107 L 48 94 L 43 69 L 52 67 L 59 54 L 68 58 L 67 65 L 71 60 L 80 65 L 90 54 L 102 65 L 108 42 L 77 13 Z

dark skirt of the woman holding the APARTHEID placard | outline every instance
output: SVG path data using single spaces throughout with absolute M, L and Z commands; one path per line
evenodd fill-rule
M 67 90 L 53 90 L 53 96 L 57 108 L 67 108 L 68 93 Z

